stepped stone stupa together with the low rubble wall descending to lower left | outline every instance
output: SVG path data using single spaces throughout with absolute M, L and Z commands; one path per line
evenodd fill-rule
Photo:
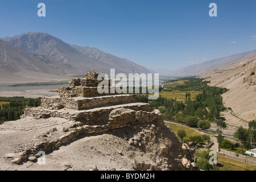
M 159 110 L 153 111 L 149 104 L 138 102 L 137 94 L 98 93 L 97 86 L 101 81 L 97 80 L 98 75 L 99 73 L 91 70 L 85 74 L 85 78 L 71 78 L 69 86 L 58 88 L 58 96 L 42 98 L 41 106 L 24 110 L 22 118 L 65 118 L 68 122 L 65 123 L 65 127 L 61 126 L 62 130 L 59 130 L 59 127 L 58 130 L 53 127 L 53 129 L 34 137 L 30 143 L 17 146 L 14 150 L 15 155 L 11 154 L 11 156 L 16 156 L 12 158 L 13 163 L 26 162 L 30 160 L 31 156 L 37 155 L 39 151 L 57 150 L 57 148 L 85 135 L 97 135 L 135 125 L 146 128 L 153 123 L 166 129 Z M 171 138 L 170 146 L 175 144 L 177 151 L 173 151 L 174 148 L 169 147 L 169 150 L 172 150 L 169 152 L 163 147 L 166 158 L 167 155 L 171 156 L 173 163 L 178 160 L 183 168 L 194 169 L 195 165 L 191 165 L 189 162 L 194 151 L 191 152 L 189 147 L 182 146 L 173 131 L 168 129 L 167 133 L 167 135 L 171 135 L 169 137 Z M 154 134 L 151 134 L 151 137 L 154 137 Z M 131 143 L 134 144 L 135 140 L 133 139 Z M 175 157 L 175 155 L 177 156 Z M 178 156 L 180 159 L 175 159 Z M 169 166 L 171 165 L 173 164 Z

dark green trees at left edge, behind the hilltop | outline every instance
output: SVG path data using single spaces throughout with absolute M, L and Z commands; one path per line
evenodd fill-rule
M 26 106 L 37 107 L 41 104 L 41 98 L 0 97 L 0 101 L 10 102 L 0 105 L 0 123 L 20 119 Z

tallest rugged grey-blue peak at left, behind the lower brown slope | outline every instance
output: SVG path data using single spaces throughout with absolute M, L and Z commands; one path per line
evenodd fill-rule
M 69 44 L 49 34 L 29 32 L 13 36 L 12 38 L 6 37 L 3 40 L 29 53 L 49 56 L 58 60 L 59 63 L 72 65 L 77 68 L 77 75 L 89 71 L 91 68 L 103 71 L 108 68 L 104 64 L 94 63 L 94 60 L 90 57 L 78 52 Z

